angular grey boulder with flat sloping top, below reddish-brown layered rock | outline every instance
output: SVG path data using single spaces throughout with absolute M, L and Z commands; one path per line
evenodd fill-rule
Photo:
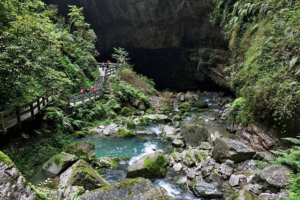
M 255 153 L 255 150 L 249 148 L 244 143 L 227 138 L 216 139 L 212 150 L 213 157 L 218 162 L 224 162 L 229 159 L 235 163 L 240 163 L 252 158 Z

